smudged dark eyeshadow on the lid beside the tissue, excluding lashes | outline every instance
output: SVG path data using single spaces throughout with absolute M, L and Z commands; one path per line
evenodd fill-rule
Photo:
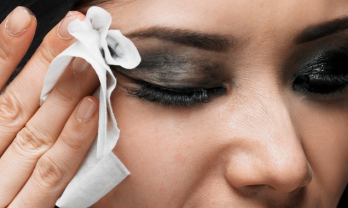
M 112 66 L 112 70 L 136 81 L 181 87 L 214 87 L 224 82 L 228 70 L 222 64 L 196 52 L 175 50 L 140 51 L 142 62 L 134 70 Z

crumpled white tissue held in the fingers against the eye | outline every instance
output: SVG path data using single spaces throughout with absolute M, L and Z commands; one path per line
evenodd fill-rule
M 94 95 L 100 102 L 98 136 L 76 175 L 56 202 L 60 208 L 89 207 L 129 175 L 129 171 L 112 152 L 120 131 L 110 102 L 116 78 L 108 65 L 131 69 L 140 63 L 141 58 L 132 41 L 118 30 L 109 30 L 111 20 L 111 15 L 104 9 L 91 7 L 84 21 L 76 19 L 70 23 L 69 32 L 77 41 L 52 61 L 41 91 L 40 104 L 47 99 L 73 57 L 81 57 L 89 62 L 100 81 L 100 87 Z

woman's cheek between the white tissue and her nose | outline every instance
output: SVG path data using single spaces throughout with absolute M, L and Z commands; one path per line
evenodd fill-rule
M 159 106 L 122 89 L 115 90 L 112 102 L 121 130 L 114 153 L 131 173 L 116 189 L 141 201 L 135 206 L 180 206 L 219 152 L 209 140 L 214 131 L 205 109 Z

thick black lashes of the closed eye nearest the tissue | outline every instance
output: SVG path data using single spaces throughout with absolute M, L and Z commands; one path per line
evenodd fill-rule
M 140 82 L 140 89 L 128 89 L 130 95 L 164 106 L 195 106 L 211 102 L 211 97 L 225 95 L 227 88 L 223 85 L 214 88 L 169 89 L 149 83 Z

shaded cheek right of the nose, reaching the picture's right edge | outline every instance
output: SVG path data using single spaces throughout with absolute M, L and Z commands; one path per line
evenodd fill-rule
M 303 149 L 327 194 L 340 196 L 348 178 L 348 104 L 292 103 Z

